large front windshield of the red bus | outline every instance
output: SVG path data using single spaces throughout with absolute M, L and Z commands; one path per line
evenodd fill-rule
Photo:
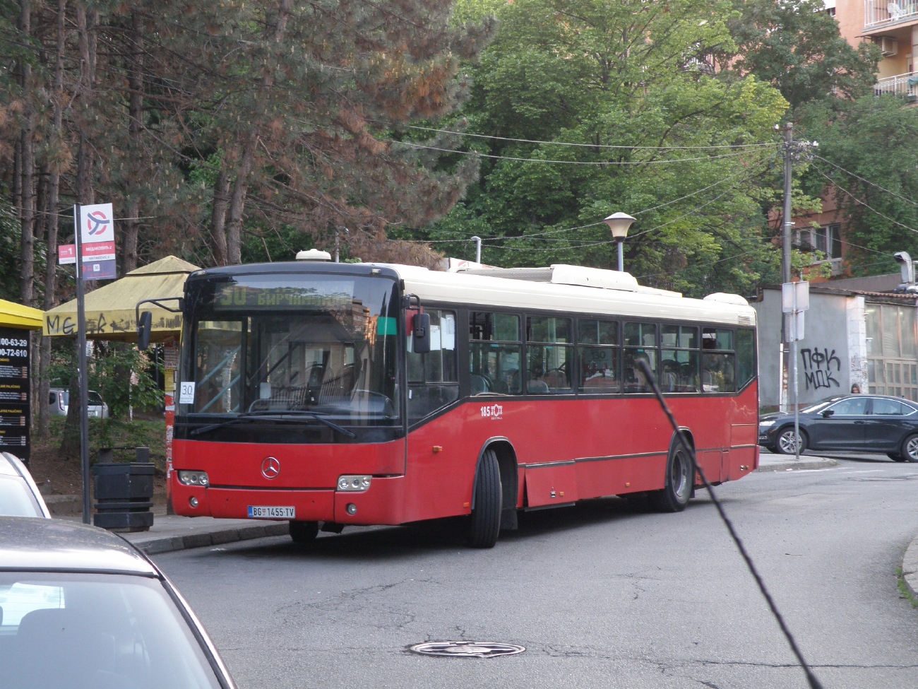
M 397 300 L 383 277 L 242 275 L 201 284 L 185 413 L 397 419 Z M 187 379 L 187 378 L 185 378 Z

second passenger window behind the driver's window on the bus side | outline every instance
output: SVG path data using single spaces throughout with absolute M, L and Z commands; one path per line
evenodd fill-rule
M 526 391 L 532 395 L 573 392 L 571 321 L 554 316 L 526 319 Z

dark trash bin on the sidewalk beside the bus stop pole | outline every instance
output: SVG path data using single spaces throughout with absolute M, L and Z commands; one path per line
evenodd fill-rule
M 112 449 L 99 450 L 99 458 L 110 459 Z M 137 457 L 149 458 L 150 450 L 138 447 Z M 97 462 L 93 466 L 93 524 L 118 531 L 147 531 L 153 525 L 154 473 L 151 461 Z

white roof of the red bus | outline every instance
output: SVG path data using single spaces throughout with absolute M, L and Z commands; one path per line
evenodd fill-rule
M 521 311 L 539 309 L 567 314 L 584 312 L 729 325 L 756 324 L 756 311 L 739 295 L 719 292 L 704 299 L 688 299 L 678 292 L 641 287 L 627 273 L 612 270 L 552 265 L 549 268 L 445 273 L 414 265 L 386 265 L 397 271 L 405 281 L 405 291 L 417 294 L 421 304 L 430 300 Z M 513 276 L 514 271 L 524 270 L 543 271 L 543 274 L 531 272 L 526 277 L 518 272 Z M 551 281 L 543 280 L 545 276 L 550 276 Z

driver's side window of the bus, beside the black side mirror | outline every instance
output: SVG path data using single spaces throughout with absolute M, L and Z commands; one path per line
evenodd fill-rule
M 417 421 L 459 399 L 456 368 L 455 311 L 425 311 L 431 315 L 431 351 L 411 351 L 408 337 L 408 415 Z

